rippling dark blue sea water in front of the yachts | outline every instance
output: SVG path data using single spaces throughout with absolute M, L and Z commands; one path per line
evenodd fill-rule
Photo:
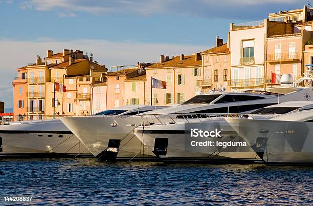
M 8 159 L 0 177 L 1 205 L 313 204 L 312 167 Z

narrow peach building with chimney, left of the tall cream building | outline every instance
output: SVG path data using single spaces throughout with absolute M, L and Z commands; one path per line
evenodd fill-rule
M 216 46 L 201 52 L 203 62 L 203 79 L 197 80 L 196 85 L 206 93 L 214 89 L 229 91 L 231 55 L 229 45 L 223 44 L 223 39 L 216 38 Z

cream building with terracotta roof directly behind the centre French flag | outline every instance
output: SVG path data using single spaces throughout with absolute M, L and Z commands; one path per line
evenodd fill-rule
M 146 67 L 146 99 L 151 104 L 151 77 L 166 81 L 166 89 L 152 89 L 152 105 L 180 104 L 200 90 L 198 80 L 203 80 L 200 53 L 169 58 L 161 55 L 160 62 Z

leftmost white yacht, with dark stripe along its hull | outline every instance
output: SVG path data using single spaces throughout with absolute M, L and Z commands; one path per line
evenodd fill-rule
M 133 115 L 137 110 L 138 107 L 128 106 L 106 110 L 97 115 Z M 11 122 L 10 125 L 0 126 L 0 157 L 23 156 L 93 157 L 59 119 Z

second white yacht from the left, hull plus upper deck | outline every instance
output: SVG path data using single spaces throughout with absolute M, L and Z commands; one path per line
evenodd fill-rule
M 121 112 L 123 109 L 133 109 Z M 141 125 L 141 118 L 129 116 L 137 115 L 151 110 L 166 108 L 165 106 L 125 106 L 119 108 L 118 113 L 108 116 L 114 112 L 98 113 L 95 116 L 86 117 L 61 117 L 61 121 L 68 127 L 80 141 L 98 158 L 99 161 L 113 161 L 130 159 L 155 159 L 155 155 L 145 148 L 141 141 L 131 133 L 137 126 Z M 128 118 L 125 118 L 128 117 Z M 117 124 L 115 119 L 119 118 L 122 124 Z M 121 125 L 125 127 L 121 127 Z

